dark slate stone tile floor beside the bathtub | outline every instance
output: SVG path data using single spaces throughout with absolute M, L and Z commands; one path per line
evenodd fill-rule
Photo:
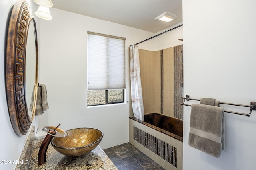
M 131 143 L 103 150 L 118 170 L 164 170 Z

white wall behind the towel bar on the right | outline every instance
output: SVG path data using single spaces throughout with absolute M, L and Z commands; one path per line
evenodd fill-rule
M 184 95 L 250 105 L 256 101 L 256 1 L 183 0 Z M 226 110 L 249 113 L 249 109 Z M 190 107 L 184 106 L 184 170 L 255 170 L 256 111 L 225 113 L 220 158 L 188 146 Z

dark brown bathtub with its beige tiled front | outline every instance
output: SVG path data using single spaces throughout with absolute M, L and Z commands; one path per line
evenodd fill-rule
M 158 113 L 129 119 L 129 141 L 163 168 L 182 170 L 183 120 Z

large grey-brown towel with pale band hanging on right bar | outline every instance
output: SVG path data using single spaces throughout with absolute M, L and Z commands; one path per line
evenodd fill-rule
M 215 157 L 220 157 L 224 132 L 224 109 L 192 104 L 188 145 Z

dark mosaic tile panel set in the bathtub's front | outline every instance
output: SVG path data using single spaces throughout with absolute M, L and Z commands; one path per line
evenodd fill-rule
M 177 148 L 135 126 L 133 127 L 133 139 L 177 168 Z

